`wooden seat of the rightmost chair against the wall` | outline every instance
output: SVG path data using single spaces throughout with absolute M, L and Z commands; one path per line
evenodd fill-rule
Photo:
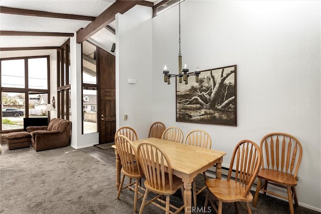
M 275 171 L 273 169 L 261 169 L 257 175 L 260 178 L 270 180 L 275 183 L 296 186 L 297 179 L 288 173 Z

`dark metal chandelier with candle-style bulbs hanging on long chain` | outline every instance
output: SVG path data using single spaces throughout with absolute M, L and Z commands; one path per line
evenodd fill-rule
M 182 69 L 182 54 L 181 54 L 181 0 L 179 1 L 179 74 L 170 74 L 170 71 L 167 70 L 165 65 L 164 67 L 164 82 L 167 84 L 171 84 L 171 77 L 178 77 L 179 83 L 185 82 L 187 85 L 189 76 L 195 76 L 195 82 L 199 82 L 199 75 L 200 75 L 199 67 L 197 67 L 196 71 L 193 74 L 189 74 L 189 69 L 187 65 L 184 65 L 184 69 Z

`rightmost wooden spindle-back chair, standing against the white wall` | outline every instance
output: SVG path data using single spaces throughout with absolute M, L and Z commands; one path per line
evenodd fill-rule
M 290 213 L 294 213 L 293 202 L 296 206 L 297 197 L 295 186 L 297 184 L 297 171 L 302 158 L 301 143 L 293 136 L 285 133 L 270 133 L 265 135 L 260 144 L 263 162 L 258 173 L 258 182 L 253 200 L 256 206 L 259 191 L 263 191 L 285 198 L 289 202 Z M 262 179 L 264 184 L 261 185 Z M 276 185 L 287 189 L 287 197 L 267 190 L 267 184 Z

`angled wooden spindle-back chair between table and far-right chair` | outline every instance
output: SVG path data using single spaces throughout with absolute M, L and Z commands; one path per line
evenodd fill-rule
M 223 202 L 234 202 L 237 213 L 238 203 L 247 210 L 247 213 L 252 213 L 249 202 L 253 200 L 253 196 L 250 190 L 261 163 L 262 154 L 256 143 L 250 140 L 239 142 L 232 154 L 227 180 L 214 178 L 206 180 L 208 192 L 204 207 L 207 207 L 208 201 L 210 201 L 216 212 L 221 214 Z M 233 166 L 235 167 L 235 175 L 233 174 L 235 179 L 232 179 Z M 218 208 L 210 200 L 211 193 L 218 200 Z M 245 202 L 246 207 L 241 202 Z

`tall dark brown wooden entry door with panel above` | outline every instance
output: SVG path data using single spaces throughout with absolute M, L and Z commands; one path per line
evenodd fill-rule
M 97 48 L 99 144 L 114 141 L 116 132 L 115 56 Z

